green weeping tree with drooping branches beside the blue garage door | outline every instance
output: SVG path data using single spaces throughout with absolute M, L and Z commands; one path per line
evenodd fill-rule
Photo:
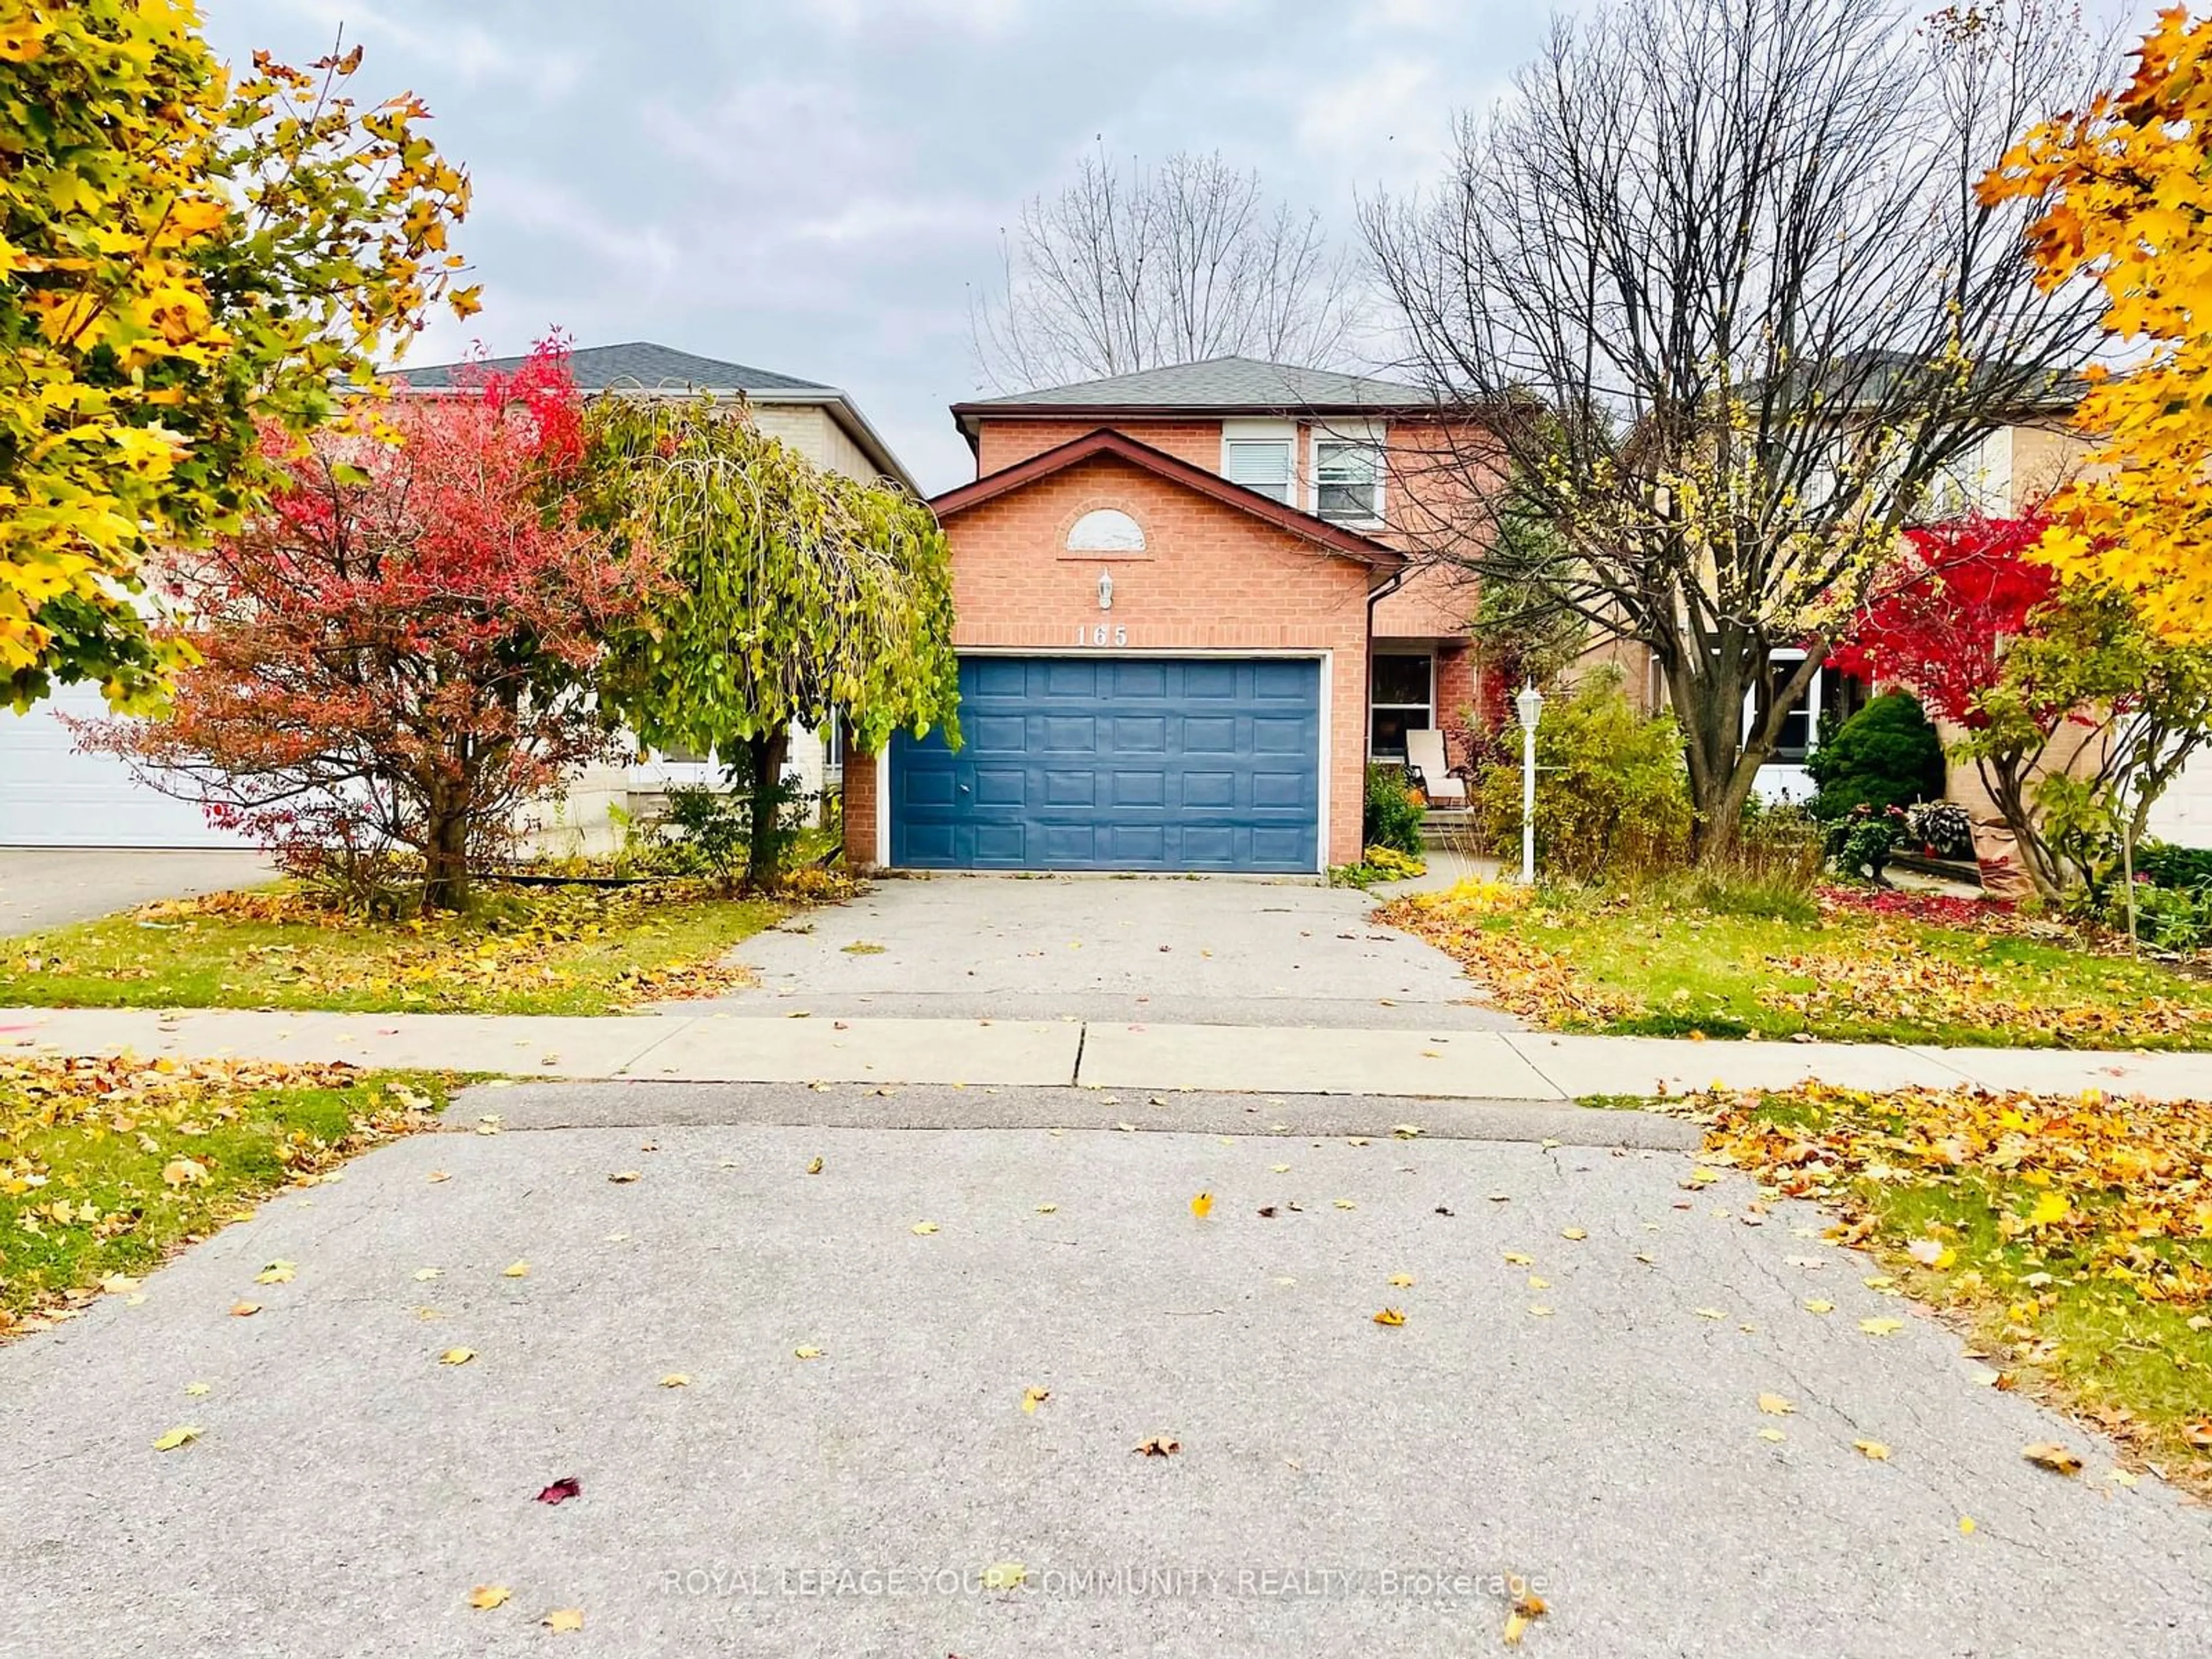
M 843 719 L 860 750 L 936 726 L 958 741 L 951 557 L 907 491 L 814 467 L 741 407 L 602 398 L 606 509 L 653 542 L 664 597 L 608 650 L 599 699 L 644 743 L 745 779 L 745 885 L 783 878 L 792 726 Z

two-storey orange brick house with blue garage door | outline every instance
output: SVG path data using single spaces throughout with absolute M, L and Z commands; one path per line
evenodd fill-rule
M 1411 568 L 1480 442 L 1418 389 L 1212 358 L 953 405 L 960 728 L 845 768 L 858 865 L 1318 872 L 1369 754 L 1475 701 L 1471 593 Z

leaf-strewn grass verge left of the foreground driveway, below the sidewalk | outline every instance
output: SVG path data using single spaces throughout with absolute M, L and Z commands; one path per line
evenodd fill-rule
M 0 1336 L 69 1318 L 296 1181 L 429 1128 L 445 1082 L 0 1055 Z

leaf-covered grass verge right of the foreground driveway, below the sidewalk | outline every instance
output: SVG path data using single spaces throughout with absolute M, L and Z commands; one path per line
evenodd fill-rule
M 1986 1360 L 2212 1498 L 2212 1104 L 1703 1095 L 1705 1161 L 1840 1210 Z

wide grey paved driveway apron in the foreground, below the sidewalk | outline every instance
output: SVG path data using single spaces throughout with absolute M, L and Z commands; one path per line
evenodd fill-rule
M 2212 1515 L 1681 1152 L 653 1088 L 378 1150 L 0 1349 L 0 1655 L 524 1655 L 575 1608 L 577 1659 L 1458 1657 L 1506 1575 L 1531 1655 L 2212 1650 Z

